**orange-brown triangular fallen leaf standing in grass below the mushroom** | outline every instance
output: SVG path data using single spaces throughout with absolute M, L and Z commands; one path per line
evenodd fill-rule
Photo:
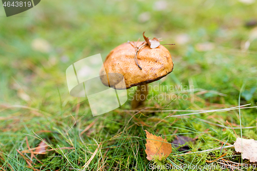
M 152 160 L 153 156 L 159 156 L 159 160 L 163 158 L 167 158 L 171 152 L 172 147 L 171 144 L 168 143 L 166 139 L 162 139 L 160 136 L 157 137 L 151 133 L 149 133 L 147 130 L 144 130 L 146 132 L 146 144 L 145 144 L 145 153 L 147 155 L 146 159 Z

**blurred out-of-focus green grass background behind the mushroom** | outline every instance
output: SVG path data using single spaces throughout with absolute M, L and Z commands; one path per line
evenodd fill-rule
M 0 100 L 24 103 L 14 83 L 35 100 L 56 97 L 57 87 L 69 98 L 70 64 L 97 53 L 105 58 L 123 42 L 142 40 L 143 31 L 176 43 L 166 47 L 179 83 L 194 78 L 200 88 L 233 92 L 231 84 L 238 89 L 242 78 L 256 82 L 257 31 L 245 25 L 256 26 L 257 10 L 248 1 L 42 1 L 11 17 L 1 7 Z

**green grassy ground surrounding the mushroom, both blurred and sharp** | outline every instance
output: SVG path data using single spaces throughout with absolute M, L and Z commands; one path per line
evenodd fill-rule
M 31 10 L 11 17 L 5 17 L 0 7 L 0 170 L 83 170 L 92 156 L 85 170 L 151 170 L 153 161 L 146 159 L 144 151 L 144 129 L 164 136 L 168 142 L 176 136 L 198 137 L 189 143 L 190 151 L 207 151 L 184 154 L 173 148 L 167 163 L 174 166 L 215 165 L 216 170 L 221 170 L 217 162 L 222 160 L 206 160 L 225 153 L 225 160 L 248 161 L 242 161 L 233 147 L 221 150 L 222 142 L 233 144 L 236 139 L 226 120 L 233 127 L 241 127 L 238 109 L 167 116 L 229 108 L 238 103 L 256 106 L 257 39 L 248 49 L 243 47 L 254 37 L 254 28 L 245 27 L 245 23 L 256 20 L 257 3 L 166 1 L 167 8 L 158 11 L 154 10 L 155 2 L 41 1 Z M 150 19 L 140 22 L 144 12 Z M 145 107 L 155 111 L 141 111 L 143 115 L 131 111 L 127 101 L 114 111 L 93 117 L 86 98 L 69 95 L 66 68 L 98 53 L 104 59 L 119 44 L 138 37 L 142 40 L 143 31 L 146 36 L 162 37 L 163 43 L 176 43 L 166 46 L 173 57 L 173 72 L 151 85 L 193 85 L 197 91 L 153 89 L 153 96 L 179 96 L 174 101 L 147 101 Z M 178 35 L 185 34 L 189 41 L 182 43 Z M 50 50 L 34 50 L 35 39 L 47 41 Z M 199 44 L 206 42 L 214 47 L 200 51 Z M 183 95 L 187 99 L 179 100 Z M 257 140 L 256 108 L 241 109 L 240 114 L 242 127 L 252 127 L 242 129 L 243 138 Z M 241 136 L 240 129 L 235 132 Z M 23 157 L 17 152 L 28 149 L 26 137 L 30 148 L 44 140 L 48 149 L 55 150 L 36 155 L 30 166 L 30 154 L 22 153 Z M 94 154 L 98 147 L 100 150 Z

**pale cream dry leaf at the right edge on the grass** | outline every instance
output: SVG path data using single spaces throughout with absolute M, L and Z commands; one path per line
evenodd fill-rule
M 257 141 L 244 138 L 242 140 L 237 137 L 234 143 L 236 152 L 240 152 L 243 159 L 249 159 L 250 162 L 257 162 Z

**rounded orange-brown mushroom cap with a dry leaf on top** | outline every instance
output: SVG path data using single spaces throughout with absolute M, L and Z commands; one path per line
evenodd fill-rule
M 138 42 L 137 46 L 141 43 L 143 42 Z M 135 48 L 130 43 L 114 48 L 106 56 L 100 70 L 102 83 L 115 89 L 128 89 L 160 80 L 173 70 L 171 54 L 162 45 L 154 49 L 145 45 L 140 49 L 137 59 L 142 70 L 135 62 L 135 54 Z M 103 77 L 105 73 L 107 77 Z M 123 77 L 120 77 L 121 74 Z

